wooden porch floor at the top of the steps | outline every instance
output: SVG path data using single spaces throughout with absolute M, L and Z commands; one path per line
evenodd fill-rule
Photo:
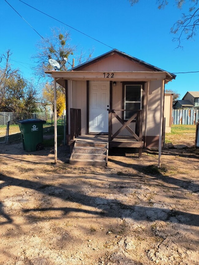
M 133 147 L 143 148 L 144 142 L 138 142 L 133 136 L 117 135 L 112 141 L 108 141 L 108 134 L 87 134 L 79 135 L 73 140 L 69 140 L 69 145 L 75 141 L 82 142 L 109 142 L 109 147 Z

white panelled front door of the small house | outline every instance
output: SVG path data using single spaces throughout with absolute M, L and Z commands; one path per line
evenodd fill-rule
M 109 81 L 90 81 L 89 91 L 89 132 L 107 133 L 110 83 Z

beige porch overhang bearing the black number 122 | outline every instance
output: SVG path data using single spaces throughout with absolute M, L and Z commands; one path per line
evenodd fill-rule
M 93 72 L 93 71 L 46 71 L 56 78 L 57 83 L 64 84 L 64 80 L 89 80 L 89 81 L 171 81 L 173 77 L 168 72 Z

